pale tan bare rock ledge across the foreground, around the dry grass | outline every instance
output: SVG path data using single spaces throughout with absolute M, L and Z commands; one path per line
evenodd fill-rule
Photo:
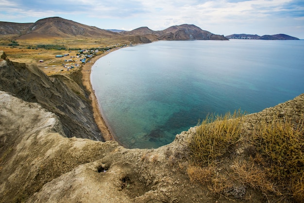
M 304 94 L 248 115 L 247 127 L 303 109 Z M 0 202 L 215 202 L 186 174 L 195 129 L 149 150 L 67 138 L 55 114 L 0 91 Z

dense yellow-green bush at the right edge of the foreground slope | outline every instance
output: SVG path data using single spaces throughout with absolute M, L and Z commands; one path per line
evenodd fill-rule
M 273 119 L 259 126 L 251 138 L 266 177 L 276 183 L 283 196 L 297 202 L 304 199 L 303 127 L 303 115 L 297 124 Z

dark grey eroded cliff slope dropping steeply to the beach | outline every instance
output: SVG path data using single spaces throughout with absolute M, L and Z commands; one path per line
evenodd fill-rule
M 72 77 L 81 78 L 76 71 Z M 88 93 L 79 84 L 62 75 L 48 77 L 34 65 L 11 62 L 0 51 L 0 90 L 24 101 L 38 102 L 55 113 L 65 136 L 103 140 L 94 118 Z

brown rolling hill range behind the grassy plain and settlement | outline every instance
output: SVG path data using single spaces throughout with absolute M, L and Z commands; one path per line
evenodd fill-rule
M 95 37 L 126 39 L 136 43 L 155 40 L 228 40 L 223 35 L 213 34 L 188 24 L 172 26 L 163 31 L 152 31 L 148 27 L 119 31 L 104 30 L 61 17 L 43 18 L 34 23 L 0 22 L 0 35 L 10 36 L 14 40 Z

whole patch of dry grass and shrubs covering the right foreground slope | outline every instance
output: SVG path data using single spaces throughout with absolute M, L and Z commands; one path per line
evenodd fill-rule
M 296 122 L 273 118 L 242 128 L 244 117 L 235 112 L 207 117 L 189 146 L 191 181 L 208 186 L 214 195 L 243 198 L 246 188 L 259 191 L 264 201 L 304 200 L 304 118 Z

